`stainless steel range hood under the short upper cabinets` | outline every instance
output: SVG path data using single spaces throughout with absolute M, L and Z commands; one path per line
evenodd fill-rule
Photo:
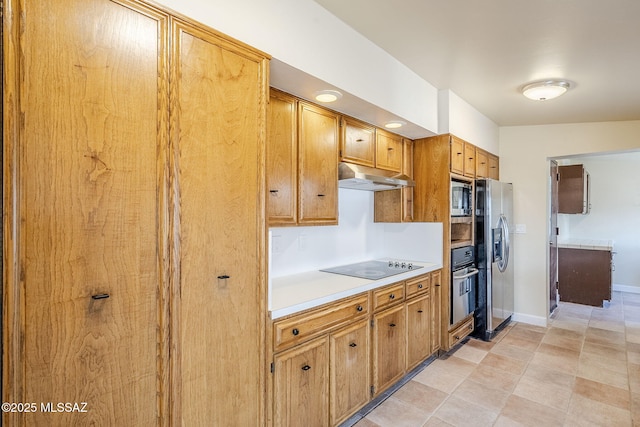
M 414 186 L 415 182 L 407 175 L 345 162 L 338 165 L 338 187 L 382 191 Z

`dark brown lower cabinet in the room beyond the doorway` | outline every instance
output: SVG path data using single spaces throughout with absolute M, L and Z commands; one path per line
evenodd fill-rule
M 611 300 L 610 250 L 558 248 L 560 301 L 602 307 Z

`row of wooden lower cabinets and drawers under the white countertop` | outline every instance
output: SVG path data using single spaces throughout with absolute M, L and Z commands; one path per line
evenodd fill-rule
M 273 426 L 337 426 L 436 352 L 440 278 L 438 270 L 274 321 Z

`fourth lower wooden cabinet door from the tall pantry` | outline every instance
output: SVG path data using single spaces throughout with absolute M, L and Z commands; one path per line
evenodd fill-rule
M 407 369 L 431 354 L 431 295 L 407 302 Z

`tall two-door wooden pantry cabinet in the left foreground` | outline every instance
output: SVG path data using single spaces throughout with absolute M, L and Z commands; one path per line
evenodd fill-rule
M 3 6 L 4 425 L 261 425 L 268 57 L 137 0 Z

